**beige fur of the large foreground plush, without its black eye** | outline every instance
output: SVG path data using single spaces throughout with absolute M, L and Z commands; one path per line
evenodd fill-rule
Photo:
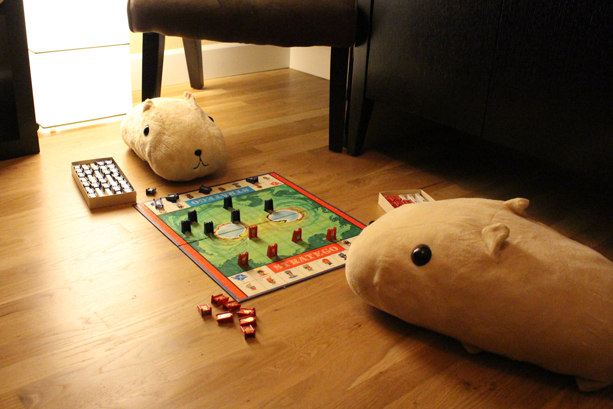
M 409 323 L 574 375 L 613 383 L 613 263 L 528 220 L 526 199 L 453 199 L 399 207 L 351 246 L 346 275 L 362 299 Z M 411 261 L 427 245 L 432 258 Z

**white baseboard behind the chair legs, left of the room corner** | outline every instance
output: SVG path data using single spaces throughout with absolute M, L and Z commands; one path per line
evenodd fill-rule
M 131 56 L 132 91 L 141 89 L 142 54 Z M 289 67 L 290 49 L 272 45 L 208 44 L 202 46 L 204 78 L 229 77 Z M 302 71 L 302 70 L 300 70 Z M 189 82 L 183 48 L 164 53 L 162 86 Z

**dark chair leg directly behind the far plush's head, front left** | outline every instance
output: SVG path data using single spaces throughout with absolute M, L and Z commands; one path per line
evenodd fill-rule
M 164 66 L 164 34 L 143 32 L 143 69 L 141 101 L 159 97 L 162 92 Z

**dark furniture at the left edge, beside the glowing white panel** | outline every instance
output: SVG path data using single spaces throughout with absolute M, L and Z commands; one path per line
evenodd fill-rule
M 39 152 L 21 0 L 0 3 L 0 160 Z

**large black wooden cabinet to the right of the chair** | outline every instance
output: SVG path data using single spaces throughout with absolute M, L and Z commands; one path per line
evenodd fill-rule
M 347 147 L 384 102 L 566 167 L 613 159 L 613 3 L 359 0 Z

